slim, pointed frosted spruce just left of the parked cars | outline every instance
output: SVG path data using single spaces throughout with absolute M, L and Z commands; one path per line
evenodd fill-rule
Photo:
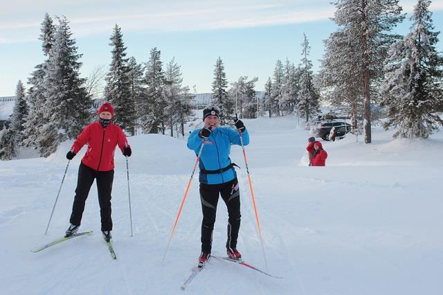
M 309 118 L 315 116 L 318 113 L 319 103 L 318 100 L 320 95 L 318 91 L 314 88 L 314 83 L 312 82 L 312 62 L 309 60 L 309 51 L 311 46 L 309 46 L 308 39 L 305 34 L 303 34 L 302 45 L 302 60 L 300 67 L 300 90 L 298 91 L 298 105 L 297 109 L 301 116 L 305 116 L 306 122 Z

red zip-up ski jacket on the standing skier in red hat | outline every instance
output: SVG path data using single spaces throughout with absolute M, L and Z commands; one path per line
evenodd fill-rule
M 77 154 L 86 143 L 88 149 L 83 156 L 82 163 L 97 171 L 114 169 L 116 145 L 120 147 L 122 153 L 125 146 L 130 147 L 123 130 L 114 123 L 110 123 L 106 128 L 103 128 L 100 122 L 87 125 L 75 139 L 71 150 Z

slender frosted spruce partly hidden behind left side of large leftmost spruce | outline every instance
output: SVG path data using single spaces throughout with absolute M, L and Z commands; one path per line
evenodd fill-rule
M 48 56 L 54 42 L 55 26 L 53 20 L 46 13 L 42 22 L 41 34 L 39 40 L 42 41 L 42 51 L 44 56 Z M 44 111 L 46 110 L 46 84 L 44 77 L 48 72 L 48 60 L 35 66 L 35 71 L 31 73 L 28 79 L 29 89 L 26 100 L 28 102 L 28 116 L 24 123 L 24 141 L 23 145 L 38 148 L 38 138 L 42 132 L 42 127 L 46 123 Z

